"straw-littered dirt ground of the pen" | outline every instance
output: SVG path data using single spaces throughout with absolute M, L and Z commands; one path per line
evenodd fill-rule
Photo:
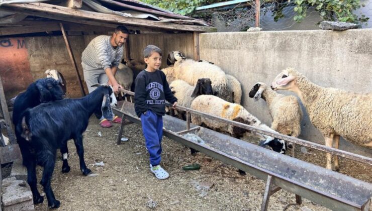
M 69 146 L 71 171 L 62 173 L 60 155 L 52 178 L 52 188 L 61 206 L 58 210 L 260 210 L 265 183 L 213 158 L 163 138 L 162 166 L 169 172 L 166 180 L 158 180 L 149 170 L 142 129 L 131 124 L 125 127 L 128 142 L 116 144 L 119 125 L 103 129 L 91 117 L 84 133 L 85 162 L 97 176 L 83 176 L 73 141 Z M 101 135 L 100 135 L 101 134 Z M 309 150 L 306 154 L 297 148 L 299 158 L 325 165 L 325 155 Z M 105 166 L 95 163 L 103 161 Z M 183 171 L 184 165 L 199 163 L 201 169 Z M 367 182 L 372 181 L 371 168 L 341 159 L 341 173 L 347 173 Z M 42 168 L 38 168 L 40 180 Z M 198 184 L 210 186 L 198 190 Z M 39 190 L 42 187 L 39 186 Z M 206 195 L 205 195 L 206 194 Z M 203 196 L 204 195 L 204 196 Z M 283 210 L 294 203 L 295 195 L 280 190 L 270 197 L 268 210 Z M 46 198 L 35 210 L 47 210 Z M 307 199 L 301 205 L 287 210 L 328 210 Z

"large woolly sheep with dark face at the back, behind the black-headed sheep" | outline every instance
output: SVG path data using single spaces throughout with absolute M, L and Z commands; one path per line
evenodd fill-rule
M 174 58 L 177 58 L 177 56 L 179 58 L 174 63 L 174 66 L 162 69 L 167 76 L 168 82 L 180 79 L 195 86 L 199 78 L 210 78 L 214 95 L 232 101 L 225 72 L 220 67 L 207 62 L 183 59 L 184 57 L 180 56 L 178 51 L 172 51 L 171 53 L 173 54 L 169 54 L 168 57 L 173 55 Z

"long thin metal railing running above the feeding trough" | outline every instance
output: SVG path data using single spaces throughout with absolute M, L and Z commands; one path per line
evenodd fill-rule
M 124 93 L 134 95 L 134 92 L 132 92 L 132 91 L 128 91 L 128 90 L 125 90 L 125 89 L 119 89 L 119 90 L 124 92 Z M 167 105 L 171 107 L 170 103 L 167 103 Z M 303 139 L 299 139 L 299 138 L 295 138 L 295 137 L 291 137 L 291 136 L 287 136 L 287 135 L 283 135 L 283 134 L 280 134 L 280 133 L 277 133 L 277 132 L 273 133 L 273 132 L 265 131 L 265 130 L 262 130 L 262 129 L 259 129 L 259 128 L 256 128 L 256 127 L 253 127 L 253 126 L 249 126 L 249 125 L 246 125 L 246 124 L 243 124 L 243 123 L 227 120 L 227 119 L 220 118 L 220 117 L 211 116 L 207 113 L 203 113 L 203 112 L 199 112 L 199 111 L 196 111 L 196 110 L 193 110 L 193 109 L 181 107 L 179 105 L 176 105 L 174 109 L 187 112 L 187 117 L 189 117 L 190 114 L 199 115 L 199 116 L 202 116 L 202 117 L 205 117 L 205 118 L 216 120 L 216 121 L 226 123 L 226 124 L 229 124 L 229 125 L 233 125 L 233 126 L 236 126 L 236 127 L 244 128 L 244 129 L 247 129 L 247 130 L 250 130 L 250 131 L 253 131 L 253 132 L 257 132 L 257 133 L 260 133 L 260 134 L 264 134 L 264 135 L 268 135 L 268 136 L 275 137 L 275 138 L 278 138 L 278 139 L 282 139 L 282 140 L 285 140 L 285 141 L 288 141 L 288 142 L 292 142 L 292 143 L 295 143 L 295 144 L 298 144 L 298 145 L 313 148 L 313 149 L 323 151 L 323 152 L 326 152 L 326 153 L 331 153 L 333 155 L 337 155 L 337 156 L 340 156 L 340 157 L 344 157 L 344 158 L 347 158 L 347 159 L 350 159 L 350 160 L 358 161 L 358 162 L 365 163 L 365 164 L 368 164 L 368 165 L 372 166 L 372 158 L 369 158 L 369 157 L 365 157 L 365 156 L 357 155 L 357 154 L 354 154 L 354 153 L 351 153 L 351 152 L 346 152 L 346 151 L 343 151 L 343 150 L 327 147 L 327 146 L 324 146 L 324 145 L 321 145 L 321 144 L 317 144 L 317 143 L 314 143 L 314 142 L 306 141 L 306 140 L 303 140 Z M 191 118 L 187 118 L 187 124 L 188 124 L 187 129 L 190 129 L 190 119 Z

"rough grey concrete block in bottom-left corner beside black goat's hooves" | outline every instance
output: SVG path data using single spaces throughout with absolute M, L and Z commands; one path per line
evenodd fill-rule
M 2 193 L 3 210 L 34 210 L 32 192 L 26 181 L 17 180 L 16 177 L 4 179 Z

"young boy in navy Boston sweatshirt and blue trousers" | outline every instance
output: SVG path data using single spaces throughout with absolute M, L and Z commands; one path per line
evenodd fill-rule
M 163 118 L 165 115 L 165 100 L 177 104 L 177 98 L 173 96 L 165 74 L 159 70 L 161 65 L 161 50 L 154 45 L 148 45 L 143 51 L 144 60 L 147 64 L 135 80 L 134 108 L 138 117 L 141 118 L 142 131 L 146 140 L 146 148 L 150 154 L 150 171 L 158 179 L 169 177 L 160 166 L 161 138 L 163 136 Z

